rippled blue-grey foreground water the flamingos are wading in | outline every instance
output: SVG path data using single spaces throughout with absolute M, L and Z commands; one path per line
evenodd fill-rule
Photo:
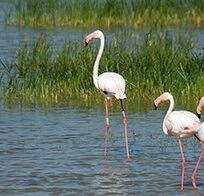
M 110 113 L 107 158 L 105 112 L 75 107 L 2 108 L 1 195 L 197 195 L 204 194 L 204 167 L 191 174 L 201 147 L 184 141 L 185 191 L 176 138 L 161 129 L 164 111 L 128 115 L 131 159 L 125 156 L 120 111 Z M 203 190 L 202 190 L 203 189 Z

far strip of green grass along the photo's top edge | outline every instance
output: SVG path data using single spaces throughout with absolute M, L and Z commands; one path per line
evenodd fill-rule
M 17 0 L 5 22 L 20 26 L 201 26 L 202 0 Z

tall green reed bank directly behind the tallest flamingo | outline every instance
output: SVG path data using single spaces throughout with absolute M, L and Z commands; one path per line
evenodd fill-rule
M 99 72 L 118 72 L 126 79 L 126 103 L 130 107 L 138 100 L 153 100 L 164 91 L 172 92 L 178 101 L 197 101 L 203 96 L 204 57 L 192 54 L 191 40 L 149 33 L 140 46 L 128 52 L 121 39 L 114 36 L 114 40 L 105 47 Z M 98 44 L 96 41 L 87 48 L 84 42 L 66 42 L 57 53 L 44 36 L 22 44 L 17 50 L 17 63 L 4 61 L 0 65 L 4 100 L 103 104 L 92 81 Z

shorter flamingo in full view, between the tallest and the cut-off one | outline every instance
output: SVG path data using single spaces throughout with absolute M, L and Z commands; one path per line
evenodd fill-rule
M 168 136 L 176 136 L 178 138 L 182 156 L 181 190 L 183 190 L 186 161 L 183 153 L 181 139 L 192 137 L 198 133 L 200 128 L 200 120 L 195 114 L 188 111 L 172 111 L 174 107 L 174 99 L 173 96 L 168 92 L 163 93 L 154 100 L 155 109 L 158 108 L 161 102 L 168 100 L 170 101 L 170 106 L 163 120 L 163 131 Z

